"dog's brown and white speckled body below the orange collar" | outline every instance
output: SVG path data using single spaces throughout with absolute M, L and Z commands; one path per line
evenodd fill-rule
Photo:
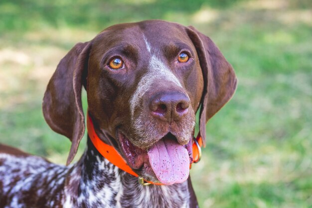
M 0 153 L 0 208 L 189 208 L 189 202 L 188 182 L 142 186 L 103 158 L 90 141 L 70 166 Z

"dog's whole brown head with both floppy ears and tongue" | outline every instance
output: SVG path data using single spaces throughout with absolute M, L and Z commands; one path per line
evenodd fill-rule
M 138 175 L 173 184 L 188 177 L 197 109 L 205 144 L 205 124 L 232 97 L 236 77 L 193 27 L 149 20 L 103 30 L 60 61 L 43 99 L 47 123 L 72 141 L 68 164 L 85 131 L 82 85 L 98 136 Z

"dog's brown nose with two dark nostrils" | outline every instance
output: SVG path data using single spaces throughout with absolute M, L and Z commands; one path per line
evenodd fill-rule
M 181 92 L 163 92 L 151 97 L 150 112 L 162 121 L 179 121 L 188 111 L 190 100 Z

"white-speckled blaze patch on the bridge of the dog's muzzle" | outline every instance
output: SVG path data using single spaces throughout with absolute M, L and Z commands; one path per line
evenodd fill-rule
M 156 81 L 173 82 L 179 87 L 181 83 L 176 76 L 170 71 L 170 69 L 159 59 L 156 55 L 152 55 L 148 72 L 141 78 L 137 90 L 130 100 L 130 108 L 132 117 L 137 105 L 140 103 L 140 99 L 143 95 L 152 87 L 152 84 Z

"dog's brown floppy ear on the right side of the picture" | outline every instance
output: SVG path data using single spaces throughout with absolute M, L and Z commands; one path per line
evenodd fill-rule
M 199 132 L 205 146 L 206 122 L 231 99 L 236 89 L 237 79 L 231 64 L 209 37 L 192 26 L 187 27 L 186 31 L 196 48 L 204 78 Z

